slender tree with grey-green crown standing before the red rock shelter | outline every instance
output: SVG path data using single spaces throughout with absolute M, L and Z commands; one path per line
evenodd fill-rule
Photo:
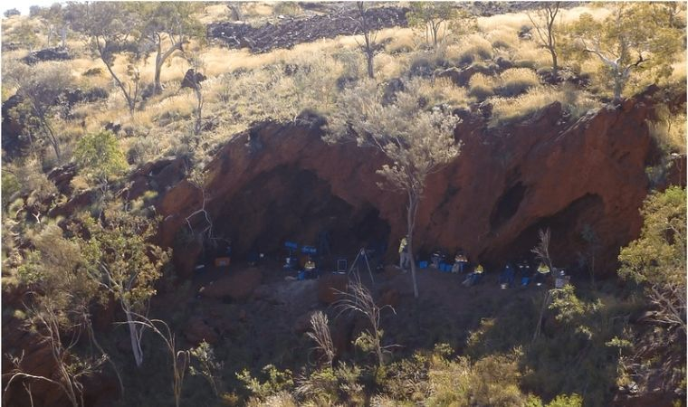
M 416 214 L 428 175 L 434 174 L 459 155 L 454 128 L 460 121 L 439 109 L 421 109 L 412 90 L 399 92 L 394 103 L 383 103 L 374 81 L 345 90 L 338 109 L 328 118 L 326 141 L 356 141 L 387 156 L 388 164 L 377 170 L 386 185 L 406 195 L 406 233 L 411 256 L 414 295 L 418 297 L 413 237 Z M 379 185 L 385 187 L 385 185 Z

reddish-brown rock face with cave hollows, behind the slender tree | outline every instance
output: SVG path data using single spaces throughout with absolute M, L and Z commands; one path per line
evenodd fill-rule
M 597 270 L 613 272 L 618 248 L 641 225 L 645 166 L 653 156 L 645 124 L 651 105 L 651 96 L 641 95 L 569 123 L 555 103 L 502 128 L 488 128 L 475 112 L 457 112 L 462 154 L 427 180 L 416 247 L 421 253 L 463 248 L 471 260 L 498 265 L 528 255 L 538 230 L 549 227 L 555 263 L 573 266 L 586 250 L 581 232 L 592 228 L 601 241 Z M 384 157 L 326 144 L 322 124 L 258 124 L 206 167 L 205 208 L 236 254 L 256 245 L 281 251 L 290 239 L 315 243 L 327 229 L 332 246 L 349 251 L 387 238 L 394 257 L 406 229 L 406 200 L 378 189 Z M 162 244 L 173 244 L 201 201 L 200 189 L 186 181 L 168 191 L 158 204 Z

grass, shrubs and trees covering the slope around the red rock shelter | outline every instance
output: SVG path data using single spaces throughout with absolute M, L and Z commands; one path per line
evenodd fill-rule
M 558 4 L 492 16 L 412 4 L 409 26 L 377 31 L 366 10 L 397 5 L 361 4 L 358 35 L 256 54 L 205 38 L 205 24 L 289 24 L 311 6 L 92 2 L 37 7 L 31 16 L 5 12 L 3 289 L 21 301 L 4 309 L 3 321 L 20 321 L 47 345 L 54 371 L 26 372 L 23 355 L 4 346 L 4 389 L 24 383 L 31 394 L 25 383 L 43 381 L 81 406 L 89 380 L 108 372 L 122 405 L 563 407 L 611 405 L 619 394 L 655 390 L 685 405 L 680 186 L 648 196 L 640 237 L 620 248 L 620 282 L 543 289 L 510 309 L 491 309 L 461 327 L 463 336 L 437 327 L 436 337 L 451 337 L 454 347 L 397 344 L 386 328 L 393 308 L 360 285 L 342 293 L 339 308 L 314 314 L 305 335 L 280 344 L 292 346 L 281 349 L 292 365 L 256 365 L 257 356 L 242 353 L 252 340 L 243 328 L 215 348 L 185 342 L 177 320 L 188 317 L 186 303 L 167 298 L 179 307 L 169 315 L 156 304 L 163 286 L 196 297 L 170 251 L 153 243 L 158 192 L 129 200 L 129 176 L 149 163 L 181 158 L 205 205 L 205 165 L 237 134 L 259 121 L 323 118 L 327 141 L 355 141 L 388 159 L 378 174 L 407 198 L 399 205 L 413 253 L 428 176 L 462 159 L 459 114 L 498 139 L 555 105 L 556 119 L 570 125 L 598 109 L 621 109 L 651 84 L 683 91 L 684 99 L 681 3 Z M 27 59 L 47 48 L 69 57 Z M 648 168 L 651 187 L 664 185 L 685 157 L 684 100 L 676 105 L 667 97 L 648 115 L 661 156 Z M 69 183 L 60 184 L 62 173 L 72 174 Z M 193 232 L 179 239 L 192 242 Z M 116 309 L 126 335 L 100 337 L 94 309 L 103 308 Z M 346 357 L 331 335 L 342 317 L 334 309 L 360 319 Z M 417 315 L 409 319 L 420 329 Z

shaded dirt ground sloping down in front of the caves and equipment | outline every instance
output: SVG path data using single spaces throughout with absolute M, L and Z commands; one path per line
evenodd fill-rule
M 193 335 L 202 335 L 204 329 L 209 330 L 206 335 L 213 336 L 215 346 L 224 346 L 229 352 L 225 360 L 234 361 L 234 371 L 246 366 L 257 369 L 266 364 L 298 370 L 312 357 L 312 344 L 304 333 L 310 327 L 313 311 L 321 309 L 330 316 L 333 340 L 340 356 L 356 355 L 351 341 L 367 327 L 364 321 L 337 317 L 337 310 L 321 301 L 320 292 L 323 286 L 329 287 L 326 279 L 331 270 L 328 268 L 320 279 L 300 281 L 294 280 L 295 271 L 282 269 L 281 260 L 277 259 L 265 260 L 254 268 L 244 262 L 229 268 L 207 267 L 196 272 L 185 298 L 179 298 L 177 292 L 164 296 L 161 301 L 175 301 L 177 307 L 180 300 L 186 303 L 189 311 L 186 320 L 179 321 L 186 339 L 191 331 Z M 262 279 L 253 282 L 251 293 L 245 299 L 204 294 L 213 287 L 229 287 L 229 281 L 236 288 L 250 279 L 246 277 L 248 274 L 256 273 Z M 367 270 L 361 270 L 361 279 L 375 293 L 378 302 L 392 305 L 396 310 L 396 314 L 388 308 L 383 312 L 382 325 L 387 340 L 400 345 L 397 352 L 401 353 L 429 349 L 437 342 L 460 349 L 469 329 L 478 327 L 483 317 L 494 317 L 504 308 L 539 297 L 544 289 L 534 285 L 501 289 L 499 270 L 486 270 L 483 282 L 468 288 L 461 284 L 464 274 L 425 269 L 417 273 L 420 296 L 416 300 L 410 272 L 402 274 L 395 266 L 387 266 L 384 272 L 374 272 L 373 276 L 375 284 L 370 284 Z M 204 321 L 205 327 L 197 327 L 198 320 Z M 305 356 L 308 357 L 304 359 Z

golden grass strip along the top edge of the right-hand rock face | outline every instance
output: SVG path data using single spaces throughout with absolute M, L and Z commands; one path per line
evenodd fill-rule
M 530 116 L 556 101 L 561 103 L 562 109 L 568 112 L 571 118 L 578 118 L 600 105 L 597 100 L 580 90 L 556 89 L 549 86 L 533 88 L 517 98 L 494 98 L 491 101 L 492 127 Z

